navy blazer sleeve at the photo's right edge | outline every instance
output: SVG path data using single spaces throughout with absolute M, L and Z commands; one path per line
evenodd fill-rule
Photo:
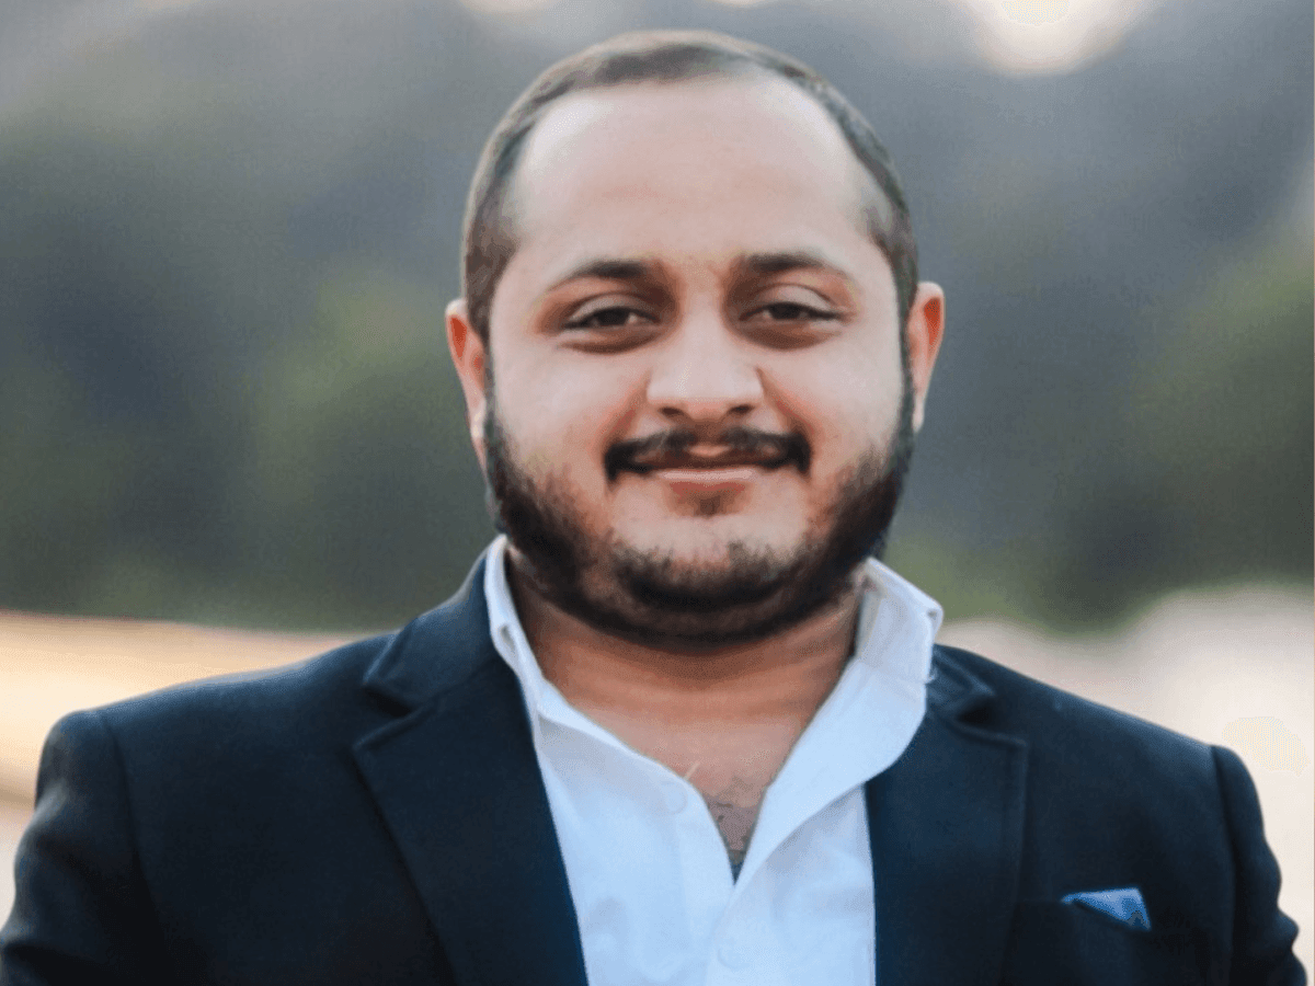
M 1256 786 L 1231 749 L 1212 748 L 1232 840 L 1235 901 L 1232 986 L 1304 986 L 1293 954 L 1297 924 L 1278 910 L 1278 862 L 1265 843 Z

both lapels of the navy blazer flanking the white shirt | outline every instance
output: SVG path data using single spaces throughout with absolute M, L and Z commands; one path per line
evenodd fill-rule
M 885 986 L 997 982 L 1018 893 L 1027 745 L 974 724 L 995 695 L 953 648 L 936 647 L 934 674 L 909 748 L 865 785 Z M 356 763 L 458 982 L 585 986 L 525 701 L 489 636 L 484 557 L 363 684 L 400 718 L 356 743 Z

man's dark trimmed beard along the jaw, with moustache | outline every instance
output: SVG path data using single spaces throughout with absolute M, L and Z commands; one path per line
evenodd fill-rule
M 627 544 L 614 530 L 592 534 L 569 484 L 555 476 L 537 479 L 517 460 L 498 418 L 492 376 L 487 387 L 489 511 L 517 551 L 509 563 L 576 619 L 647 647 L 697 652 L 763 640 L 839 601 L 859 564 L 881 557 L 913 458 L 906 367 L 894 434 L 885 448 L 869 448 L 840 477 L 819 535 L 809 534 L 785 551 L 732 540 L 723 564 L 690 563 L 671 551 Z M 776 468 L 807 473 L 811 450 L 802 435 L 732 431 L 727 444 L 743 448 L 757 440 L 781 451 Z M 693 442 L 693 434 L 668 433 L 618 443 L 605 456 L 609 482 L 627 468 L 630 452 Z

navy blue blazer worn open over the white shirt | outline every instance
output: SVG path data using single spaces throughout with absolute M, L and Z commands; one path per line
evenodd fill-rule
M 393 635 L 57 724 L 0 986 L 584 986 L 481 588 L 483 563 Z M 1304 982 L 1236 756 L 964 651 L 934 668 L 867 785 L 882 986 Z M 1127 886 L 1151 931 L 1061 903 Z

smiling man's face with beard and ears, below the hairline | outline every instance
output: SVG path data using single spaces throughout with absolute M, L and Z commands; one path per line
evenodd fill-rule
M 878 547 L 940 294 L 914 301 L 906 365 L 868 193 L 780 80 L 586 92 L 539 121 L 488 350 L 460 302 L 448 334 L 513 564 L 544 596 L 700 649 L 806 618 Z

